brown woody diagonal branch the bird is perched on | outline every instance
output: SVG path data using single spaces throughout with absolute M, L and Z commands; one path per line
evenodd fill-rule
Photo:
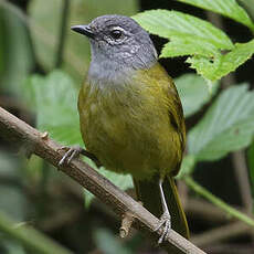
M 61 145 L 1 107 L 0 136 L 19 142 L 25 148 L 29 155 L 35 154 L 56 168 L 63 157 Z M 74 159 L 68 166 L 61 167 L 60 170 L 99 198 L 119 216 L 124 216 L 127 212 L 133 214 L 135 218 L 134 226 L 136 229 L 141 230 L 156 240 L 162 233 L 162 230 L 155 232 L 155 229 L 159 224 L 159 220 L 155 215 L 81 159 Z M 161 247 L 170 253 L 204 254 L 203 251 L 173 230 L 170 231 L 167 242 Z M 172 252 L 172 248 L 174 252 Z

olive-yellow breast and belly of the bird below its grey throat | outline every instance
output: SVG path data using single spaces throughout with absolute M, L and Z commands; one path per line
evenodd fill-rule
M 177 170 L 182 140 L 170 118 L 177 114 L 171 80 L 157 64 L 134 73 L 130 81 L 117 87 L 83 85 L 78 112 L 87 150 L 107 169 L 137 179 Z

